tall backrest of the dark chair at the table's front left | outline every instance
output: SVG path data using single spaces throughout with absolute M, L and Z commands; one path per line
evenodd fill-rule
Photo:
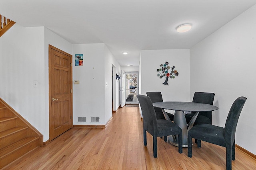
M 142 116 L 143 116 L 143 128 L 151 135 L 157 134 L 156 113 L 154 106 L 148 96 L 138 94 L 136 96 L 140 103 Z

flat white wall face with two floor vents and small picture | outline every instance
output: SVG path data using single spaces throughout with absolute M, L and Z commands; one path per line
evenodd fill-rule
M 73 124 L 90 124 L 90 117 L 100 117 L 100 123 L 105 122 L 105 78 L 104 78 L 104 44 L 74 44 L 75 54 L 83 54 L 84 65 L 74 66 L 73 80 Z M 86 117 L 86 123 L 78 123 L 77 117 Z

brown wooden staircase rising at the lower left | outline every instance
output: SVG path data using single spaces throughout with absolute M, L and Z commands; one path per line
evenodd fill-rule
M 42 144 L 43 135 L 0 98 L 0 169 Z

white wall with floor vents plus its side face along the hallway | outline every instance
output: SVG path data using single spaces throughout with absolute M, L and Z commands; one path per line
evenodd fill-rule
M 112 117 L 112 65 L 117 71 L 120 71 L 120 65 L 104 43 L 74 44 L 72 53 L 84 57 L 83 66 L 73 66 L 73 80 L 80 81 L 80 84 L 73 84 L 73 124 L 105 125 Z M 113 74 L 115 78 L 116 74 Z M 117 103 L 114 106 L 119 106 L 119 86 L 115 86 Z M 77 117 L 86 117 L 88 121 L 78 123 Z M 100 122 L 91 123 L 90 117 L 100 117 Z

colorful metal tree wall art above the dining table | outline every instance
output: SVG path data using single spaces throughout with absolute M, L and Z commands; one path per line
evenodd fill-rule
M 160 64 L 160 67 L 162 68 L 158 68 L 156 71 L 158 72 L 157 76 L 159 76 L 159 78 L 163 78 L 165 77 L 165 82 L 162 84 L 168 84 L 168 79 L 169 78 L 175 78 L 175 76 L 178 76 L 179 73 L 177 70 L 174 70 L 175 66 L 168 66 L 169 62 L 166 61 L 164 64 Z

